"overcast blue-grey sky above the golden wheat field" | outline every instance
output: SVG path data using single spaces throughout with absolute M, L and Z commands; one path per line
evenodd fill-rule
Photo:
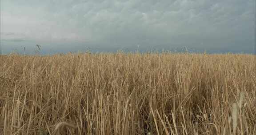
M 256 0 L 1 0 L 1 52 L 98 48 L 255 53 Z

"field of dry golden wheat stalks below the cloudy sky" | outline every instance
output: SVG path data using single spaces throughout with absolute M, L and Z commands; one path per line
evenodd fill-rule
M 256 56 L 0 56 L 0 135 L 256 135 Z

